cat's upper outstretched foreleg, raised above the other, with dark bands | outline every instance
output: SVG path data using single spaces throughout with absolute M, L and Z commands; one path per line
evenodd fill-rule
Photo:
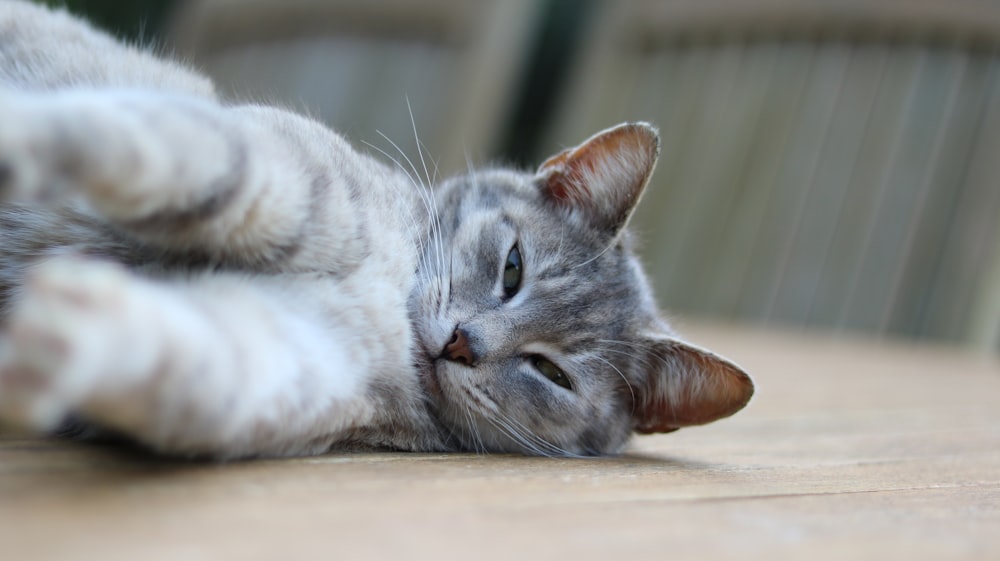
M 219 261 L 302 270 L 318 265 L 316 247 L 349 258 L 363 229 L 352 190 L 384 183 L 361 160 L 269 107 L 131 90 L 0 95 L 0 199 L 76 196 L 147 243 Z

